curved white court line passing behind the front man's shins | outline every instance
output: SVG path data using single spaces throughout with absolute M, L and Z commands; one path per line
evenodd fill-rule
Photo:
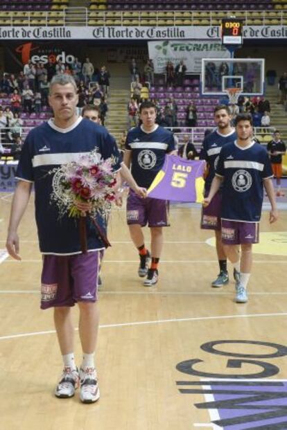
M 103 324 L 99 325 L 99 328 L 117 328 L 117 327 L 134 327 L 135 325 L 153 325 L 153 324 L 165 324 L 165 323 L 187 323 L 191 321 L 212 321 L 218 319 L 243 319 L 243 318 L 263 318 L 263 317 L 274 317 L 274 316 L 287 316 L 286 312 L 277 314 L 245 314 L 245 315 L 224 315 L 224 316 L 193 316 L 191 318 L 175 318 L 175 319 L 159 319 L 155 321 L 135 321 L 134 323 L 116 323 L 116 324 Z M 78 330 L 75 328 L 74 330 Z M 0 341 L 6 339 L 16 339 L 19 337 L 31 337 L 39 336 L 40 334 L 53 334 L 55 330 L 46 330 L 43 332 L 30 332 L 20 334 L 10 334 L 8 336 L 1 336 Z

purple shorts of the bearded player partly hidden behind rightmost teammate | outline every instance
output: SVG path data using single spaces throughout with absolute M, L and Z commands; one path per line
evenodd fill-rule
M 209 195 L 209 190 L 205 190 L 205 197 Z M 220 230 L 221 229 L 221 191 L 216 192 L 216 195 L 211 200 L 209 205 L 201 210 L 201 229 Z

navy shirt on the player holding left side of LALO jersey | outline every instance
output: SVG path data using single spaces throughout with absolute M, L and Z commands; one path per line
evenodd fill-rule
M 175 150 L 173 134 L 157 126 L 154 132 L 134 127 L 128 132 L 125 148 L 132 151 L 132 176 L 138 186 L 149 188 L 164 165 L 168 152 Z

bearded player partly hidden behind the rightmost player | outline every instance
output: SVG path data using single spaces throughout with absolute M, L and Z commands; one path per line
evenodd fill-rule
M 227 143 L 234 142 L 236 133 L 231 125 L 232 116 L 229 107 L 218 105 L 214 109 L 214 121 L 217 125 L 214 132 L 209 133 L 200 151 L 200 159 L 207 161 L 207 176 L 205 178 L 205 197 L 209 195 L 212 179 L 214 179 L 216 164 L 221 148 Z M 202 207 L 201 228 L 214 230 L 216 237 L 216 253 L 218 257 L 219 274 L 216 280 L 212 281 L 211 287 L 223 287 L 228 284 L 229 276 L 227 272 L 227 257 L 221 242 L 221 190 L 219 189 L 211 204 Z M 235 276 L 236 273 L 234 272 Z

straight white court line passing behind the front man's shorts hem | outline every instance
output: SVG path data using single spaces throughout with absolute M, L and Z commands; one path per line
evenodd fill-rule
M 184 292 L 184 291 L 101 291 L 101 289 L 98 290 L 99 294 L 110 294 L 115 296 L 121 296 L 121 295 L 162 295 L 162 296 L 230 296 L 233 293 L 231 291 L 207 291 L 207 292 Z M 0 294 L 40 294 L 40 287 L 39 289 L 1 289 Z M 286 296 L 287 292 L 248 292 L 250 296 Z

